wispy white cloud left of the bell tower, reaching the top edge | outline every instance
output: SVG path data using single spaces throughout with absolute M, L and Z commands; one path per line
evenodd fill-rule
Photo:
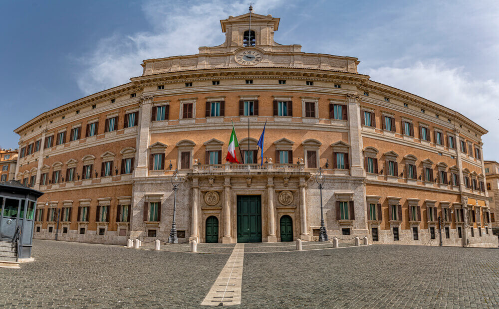
M 222 44 L 225 36 L 219 20 L 248 12 L 247 2 L 146 2 L 142 10 L 152 30 L 101 39 L 93 52 L 79 59 L 85 69 L 77 78 L 78 87 L 85 95 L 95 93 L 141 75 L 142 60 L 195 54 L 199 46 Z M 254 2 L 254 12 L 263 15 L 284 3 L 283 0 Z

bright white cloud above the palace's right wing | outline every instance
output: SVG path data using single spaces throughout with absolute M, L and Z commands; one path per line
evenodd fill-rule
M 499 83 L 477 80 L 462 68 L 447 67 L 443 61 L 417 62 L 411 67 L 380 67 L 367 73 L 372 80 L 451 108 L 489 131 L 484 136 L 486 159 L 499 152 Z

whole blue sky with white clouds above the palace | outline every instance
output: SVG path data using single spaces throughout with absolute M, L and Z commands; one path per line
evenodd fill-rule
M 140 76 L 144 59 L 224 42 L 248 0 L 0 0 L 0 146 L 37 115 Z M 252 0 L 274 39 L 357 57 L 359 73 L 454 109 L 499 160 L 499 1 Z

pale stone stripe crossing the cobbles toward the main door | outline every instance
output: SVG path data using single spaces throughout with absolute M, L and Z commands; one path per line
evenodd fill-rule
M 222 272 L 206 295 L 204 306 L 241 305 L 245 244 L 236 244 Z

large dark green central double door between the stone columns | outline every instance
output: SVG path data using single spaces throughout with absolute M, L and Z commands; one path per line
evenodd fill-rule
M 261 196 L 238 195 L 238 243 L 261 242 Z

